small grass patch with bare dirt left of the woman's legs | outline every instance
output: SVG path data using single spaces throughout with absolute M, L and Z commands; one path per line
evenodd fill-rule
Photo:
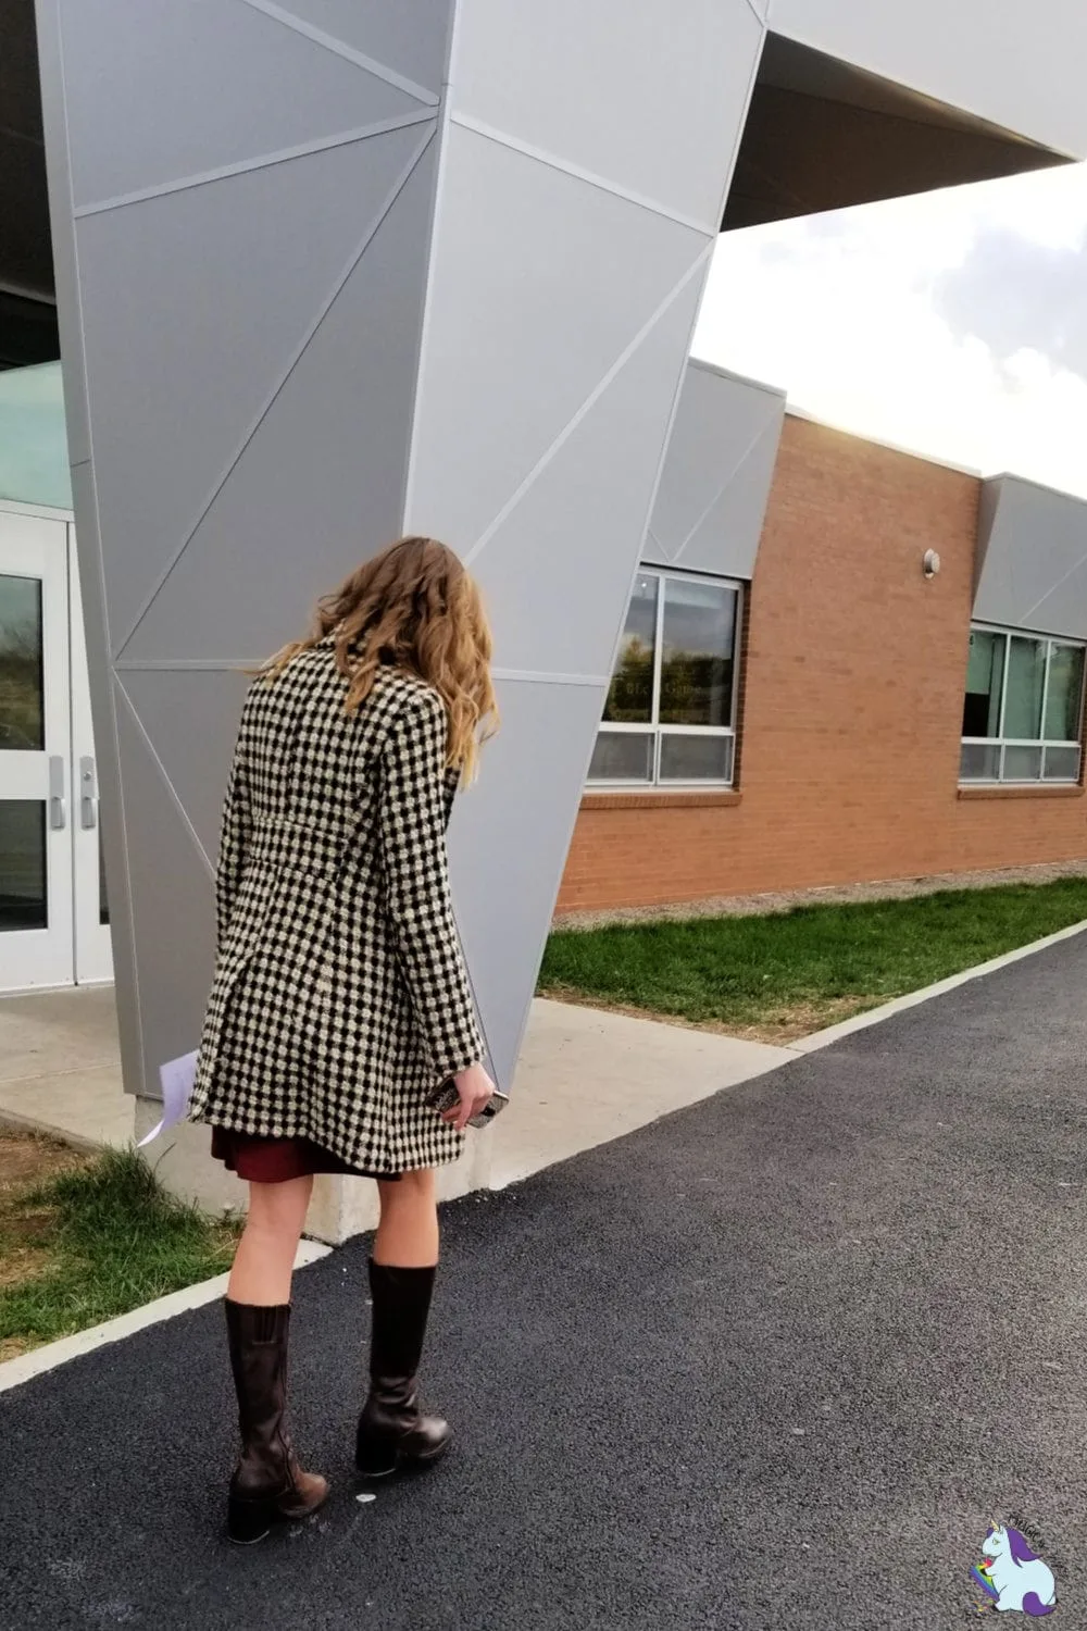
M 0 1205 L 0 1357 L 222 1274 L 236 1235 L 235 1222 L 168 1196 L 135 1150 L 11 1186 Z

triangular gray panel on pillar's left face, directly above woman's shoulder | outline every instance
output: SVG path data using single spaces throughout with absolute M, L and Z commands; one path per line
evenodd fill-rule
M 253 661 L 401 528 L 435 144 L 233 466 L 127 646 Z

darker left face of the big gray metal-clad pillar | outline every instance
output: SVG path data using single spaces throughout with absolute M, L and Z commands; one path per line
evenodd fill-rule
M 134 1091 L 200 1021 L 238 670 L 403 520 L 451 7 L 429 83 L 306 10 L 39 5 Z

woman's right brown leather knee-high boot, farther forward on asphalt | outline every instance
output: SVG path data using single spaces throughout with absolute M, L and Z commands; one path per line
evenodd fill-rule
M 419 1360 L 435 1269 L 393 1269 L 370 1259 L 373 1324 L 370 1395 L 359 1417 L 355 1466 L 368 1478 L 398 1463 L 422 1466 L 448 1448 L 453 1429 L 419 1409 Z

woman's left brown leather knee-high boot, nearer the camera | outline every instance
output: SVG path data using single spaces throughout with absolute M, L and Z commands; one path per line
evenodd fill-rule
M 287 1434 L 290 1303 L 259 1308 L 223 1300 L 230 1367 L 238 1390 L 241 1456 L 230 1479 L 227 1533 L 248 1545 L 274 1522 L 303 1518 L 328 1496 L 328 1481 L 303 1473 Z

